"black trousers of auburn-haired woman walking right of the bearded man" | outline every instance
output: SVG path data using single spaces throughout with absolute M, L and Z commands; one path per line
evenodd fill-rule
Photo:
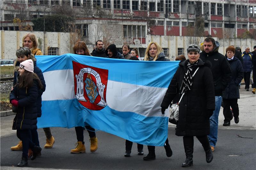
M 230 122 L 233 118 L 233 115 L 235 118 L 239 116 L 239 108 L 237 104 L 237 99 L 222 99 L 223 100 L 223 115 L 224 115 L 224 122 L 228 121 Z M 230 107 L 232 108 L 232 113 L 230 112 Z

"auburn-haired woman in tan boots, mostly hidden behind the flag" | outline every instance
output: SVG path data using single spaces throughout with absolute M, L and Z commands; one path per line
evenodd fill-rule
M 78 41 L 75 43 L 74 47 L 74 54 L 78 55 L 90 55 L 90 52 L 85 44 L 84 41 Z M 95 152 L 98 149 L 98 138 L 95 134 L 95 129 L 92 128 L 90 125 L 85 126 L 86 130 L 89 133 L 90 137 L 90 151 Z M 75 149 L 71 149 L 71 153 L 85 153 L 85 145 L 84 145 L 84 129 L 82 126 L 76 126 L 76 139 L 77 143 Z

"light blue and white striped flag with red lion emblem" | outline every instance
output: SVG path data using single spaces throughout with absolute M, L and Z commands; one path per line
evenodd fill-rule
M 168 109 L 161 102 L 179 62 L 65 54 L 36 56 L 44 74 L 38 128 L 90 125 L 124 139 L 163 146 Z

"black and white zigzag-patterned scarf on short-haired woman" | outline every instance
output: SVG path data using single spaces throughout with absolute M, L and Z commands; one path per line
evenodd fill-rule
M 184 75 L 183 77 L 183 80 L 182 80 L 182 84 L 181 84 L 181 87 L 180 87 L 180 91 L 181 93 L 185 93 L 189 90 L 191 90 L 191 87 L 192 87 L 192 83 L 193 83 L 193 71 L 192 69 L 196 66 L 196 64 L 198 63 L 199 60 L 197 60 L 197 62 L 195 63 L 189 63 L 189 61 L 187 62 L 187 72 L 186 74 Z

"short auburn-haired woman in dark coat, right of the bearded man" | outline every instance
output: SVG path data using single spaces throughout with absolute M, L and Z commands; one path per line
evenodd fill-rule
M 232 70 L 232 77 L 231 81 L 226 87 L 226 89 L 222 92 L 222 99 L 223 99 L 223 115 L 224 115 L 224 123 L 223 126 L 229 126 L 230 121 L 233 118 L 235 123 L 239 122 L 239 108 L 237 104 L 237 99 L 240 98 L 239 96 L 239 83 L 242 81 L 244 77 L 244 70 L 242 63 L 239 61 L 238 58 L 235 57 L 236 48 L 233 46 L 229 46 L 226 49 L 228 63 L 230 64 Z M 232 112 L 230 112 L 230 107 L 232 108 Z

